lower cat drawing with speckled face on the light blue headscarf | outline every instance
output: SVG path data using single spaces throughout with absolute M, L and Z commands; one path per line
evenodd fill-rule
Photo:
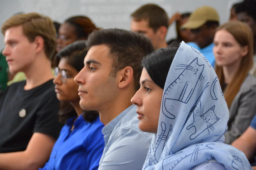
M 204 113 L 204 106 L 202 107 L 201 101 L 199 101 L 196 108 L 193 110 L 193 123 L 186 128 L 189 130 L 194 127 L 194 133 L 189 136 L 190 140 L 195 139 L 203 132 L 207 134 L 214 132 L 215 128 L 213 125 L 220 119 L 216 116 L 214 109 L 215 105 Z

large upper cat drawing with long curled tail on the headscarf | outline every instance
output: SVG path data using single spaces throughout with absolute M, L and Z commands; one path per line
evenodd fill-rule
M 172 106 L 168 106 L 170 100 L 182 102 L 187 104 L 191 96 L 195 92 L 198 81 L 202 81 L 204 76 L 202 72 L 204 70 L 204 64 L 198 64 L 198 58 L 195 58 L 190 64 L 178 64 L 175 70 L 183 70 L 182 73 L 172 82 L 165 90 L 163 95 L 163 114 L 169 119 L 175 119 L 175 115 L 172 114 Z M 176 86 L 176 87 L 175 87 Z M 177 87 L 178 86 L 178 87 Z M 175 93 L 173 89 L 178 90 Z M 175 103 L 173 103 L 175 105 Z

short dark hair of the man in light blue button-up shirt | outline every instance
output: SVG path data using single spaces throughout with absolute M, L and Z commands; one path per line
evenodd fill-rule
M 112 70 L 110 75 L 116 76 L 117 71 L 130 66 L 133 69 L 135 90 L 139 89 L 141 59 L 154 51 L 150 40 L 143 34 L 123 30 L 104 29 L 92 32 L 87 39 L 87 47 L 106 45 L 110 48 Z

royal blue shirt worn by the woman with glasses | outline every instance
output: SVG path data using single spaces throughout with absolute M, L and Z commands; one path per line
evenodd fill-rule
M 39 169 L 98 169 L 104 149 L 104 138 L 101 133 L 104 125 L 100 122 L 99 116 L 88 123 L 80 115 L 71 131 L 75 118 L 70 118 L 62 127 L 49 161 Z

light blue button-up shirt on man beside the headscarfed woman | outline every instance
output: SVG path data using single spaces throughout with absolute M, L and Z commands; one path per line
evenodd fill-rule
M 131 105 L 102 129 L 105 147 L 99 170 L 142 169 L 153 134 L 138 128 L 136 109 Z

